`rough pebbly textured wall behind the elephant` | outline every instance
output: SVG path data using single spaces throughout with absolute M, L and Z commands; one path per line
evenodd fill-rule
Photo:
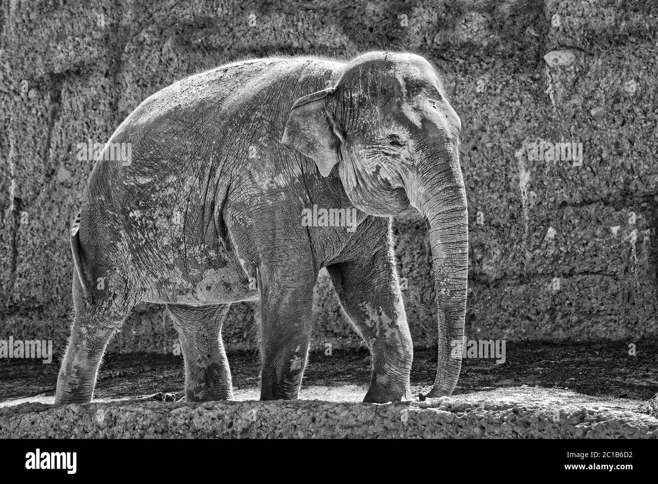
M 91 171 L 78 143 L 104 142 L 148 95 L 245 55 L 388 45 L 436 62 L 463 122 L 467 334 L 658 332 L 653 0 L 12 0 L 0 18 L 0 338 L 66 338 L 68 227 Z M 582 163 L 531 159 L 540 139 L 582 144 Z M 403 220 L 396 233 L 411 332 L 432 345 L 426 230 Z M 315 348 L 359 344 L 324 275 L 315 308 Z M 230 348 L 253 346 L 252 321 L 234 306 Z M 111 350 L 168 351 L 175 339 L 162 308 L 139 306 Z

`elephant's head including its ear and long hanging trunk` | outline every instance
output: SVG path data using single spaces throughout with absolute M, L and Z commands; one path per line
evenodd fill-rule
M 428 396 L 457 385 L 467 290 L 468 214 L 459 166 L 459 117 L 434 68 L 409 53 L 367 53 L 334 88 L 297 99 L 282 143 L 337 170 L 354 205 L 392 216 L 415 207 L 428 221 L 438 315 L 438 369 Z

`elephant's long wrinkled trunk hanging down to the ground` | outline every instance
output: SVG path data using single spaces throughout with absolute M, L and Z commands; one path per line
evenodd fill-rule
M 439 165 L 440 175 L 420 190 L 425 200 L 416 205 L 430 225 L 438 319 L 438 366 L 428 397 L 450 395 L 457 386 L 468 280 L 468 210 L 459 156 L 453 152 Z

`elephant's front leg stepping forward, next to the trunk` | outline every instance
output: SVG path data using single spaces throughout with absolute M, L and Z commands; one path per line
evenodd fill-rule
M 364 402 L 411 400 L 413 343 L 395 275 L 393 254 L 327 267 L 343 309 L 372 354 L 372 379 Z

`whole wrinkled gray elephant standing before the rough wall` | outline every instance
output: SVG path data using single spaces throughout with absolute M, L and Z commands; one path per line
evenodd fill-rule
M 105 346 L 140 301 L 172 315 L 188 401 L 232 398 L 222 323 L 232 302 L 258 298 L 261 400 L 296 398 L 321 267 L 372 352 L 365 401 L 410 400 L 390 217 L 415 210 L 438 309 L 428 396 L 451 394 L 467 288 L 460 129 L 432 66 L 408 53 L 242 61 L 149 97 L 111 138 L 132 143 L 132 163 L 95 164 L 74 225 L 82 277 L 57 404 L 91 400 Z M 304 227 L 314 204 L 356 207 L 358 227 Z

